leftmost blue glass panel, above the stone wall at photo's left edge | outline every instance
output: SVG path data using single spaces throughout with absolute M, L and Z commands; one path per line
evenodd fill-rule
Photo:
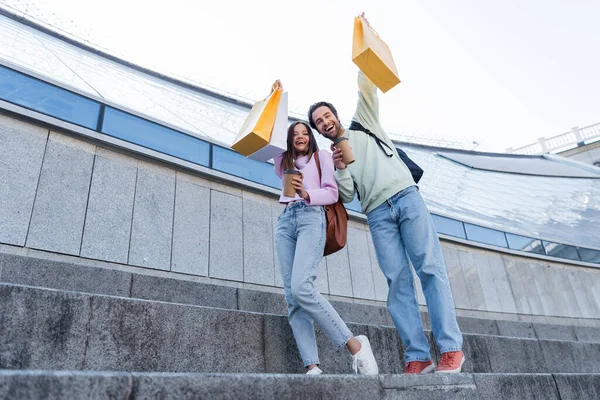
M 0 65 L 0 98 L 96 130 L 100 103 Z

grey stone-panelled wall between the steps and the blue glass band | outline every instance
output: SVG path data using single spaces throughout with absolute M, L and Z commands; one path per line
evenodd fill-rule
M 181 279 L 282 287 L 272 193 L 0 115 L 0 243 Z M 459 314 L 596 324 L 600 270 L 443 240 Z M 143 271 L 143 270 L 142 270 Z M 320 265 L 318 287 L 347 301 L 383 302 L 364 221 Z M 417 289 L 419 303 L 424 297 Z

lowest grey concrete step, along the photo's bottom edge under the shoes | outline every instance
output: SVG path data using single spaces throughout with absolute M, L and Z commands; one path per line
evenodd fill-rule
M 600 375 L 304 375 L 0 370 L 0 399 L 597 399 Z

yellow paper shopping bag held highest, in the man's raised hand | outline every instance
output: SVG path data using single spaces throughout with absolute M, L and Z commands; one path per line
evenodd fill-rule
M 361 17 L 354 18 L 352 61 L 383 93 L 400 83 L 390 48 Z

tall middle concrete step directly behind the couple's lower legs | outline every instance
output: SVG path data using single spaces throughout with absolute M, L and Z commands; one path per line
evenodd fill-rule
M 349 327 L 381 373 L 403 370 L 394 328 Z M 317 341 L 324 371 L 351 372 L 345 349 Z M 600 373 L 597 343 L 465 334 L 463 350 L 465 372 Z M 285 316 L 14 284 L 0 284 L 0 369 L 304 372 Z

